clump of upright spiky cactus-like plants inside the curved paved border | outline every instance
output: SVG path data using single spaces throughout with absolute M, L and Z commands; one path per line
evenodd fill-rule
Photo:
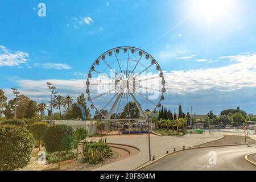
M 90 142 L 82 143 L 82 158 L 86 163 L 98 164 L 110 155 L 112 155 L 112 150 L 106 143 L 106 138 L 97 142 L 91 140 Z

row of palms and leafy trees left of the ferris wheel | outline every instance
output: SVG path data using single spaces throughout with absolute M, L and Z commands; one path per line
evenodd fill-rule
M 23 94 L 7 102 L 7 97 L 2 89 L 0 89 L 0 117 L 5 115 L 6 119 L 14 118 L 16 102 L 16 118 L 33 118 L 37 115 L 42 119 L 49 119 L 51 115 L 50 104 L 41 102 L 37 104 L 36 101 L 31 100 Z M 82 118 L 81 109 L 78 105 L 84 107 L 86 118 L 90 118 L 90 110 L 86 105 L 85 95 L 82 93 L 77 97 L 76 102 L 71 96 L 57 95 L 53 97 L 52 107 L 57 109 L 59 113 L 53 113 L 53 119 L 76 119 Z M 64 109 L 64 110 L 63 110 Z M 47 113 L 45 113 L 47 111 Z

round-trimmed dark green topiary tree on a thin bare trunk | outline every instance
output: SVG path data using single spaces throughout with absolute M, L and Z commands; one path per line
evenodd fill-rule
M 77 147 L 74 130 L 67 125 L 53 125 L 49 127 L 43 138 L 47 152 L 59 152 L 59 170 L 60 170 L 60 152 L 69 151 Z

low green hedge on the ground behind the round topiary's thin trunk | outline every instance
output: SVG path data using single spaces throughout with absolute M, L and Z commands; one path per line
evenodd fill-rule
M 58 152 L 46 153 L 46 160 L 48 164 L 59 162 Z M 73 151 L 62 151 L 60 152 L 60 161 L 75 159 L 76 153 Z

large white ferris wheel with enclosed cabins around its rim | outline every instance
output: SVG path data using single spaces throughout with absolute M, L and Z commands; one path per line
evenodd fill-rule
M 135 47 L 117 47 L 94 61 L 86 81 L 91 109 L 105 119 L 146 118 L 162 107 L 164 75 L 157 61 Z

